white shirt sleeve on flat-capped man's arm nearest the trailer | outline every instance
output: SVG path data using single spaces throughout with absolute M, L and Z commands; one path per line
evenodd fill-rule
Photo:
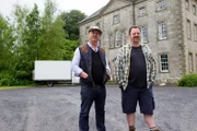
M 83 70 L 79 67 L 80 60 L 81 60 L 81 55 L 78 47 L 74 51 L 74 56 L 72 58 L 72 64 L 71 64 L 71 70 L 74 72 L 76 76 L 79 76 L 80 73 L 83 72 Z

